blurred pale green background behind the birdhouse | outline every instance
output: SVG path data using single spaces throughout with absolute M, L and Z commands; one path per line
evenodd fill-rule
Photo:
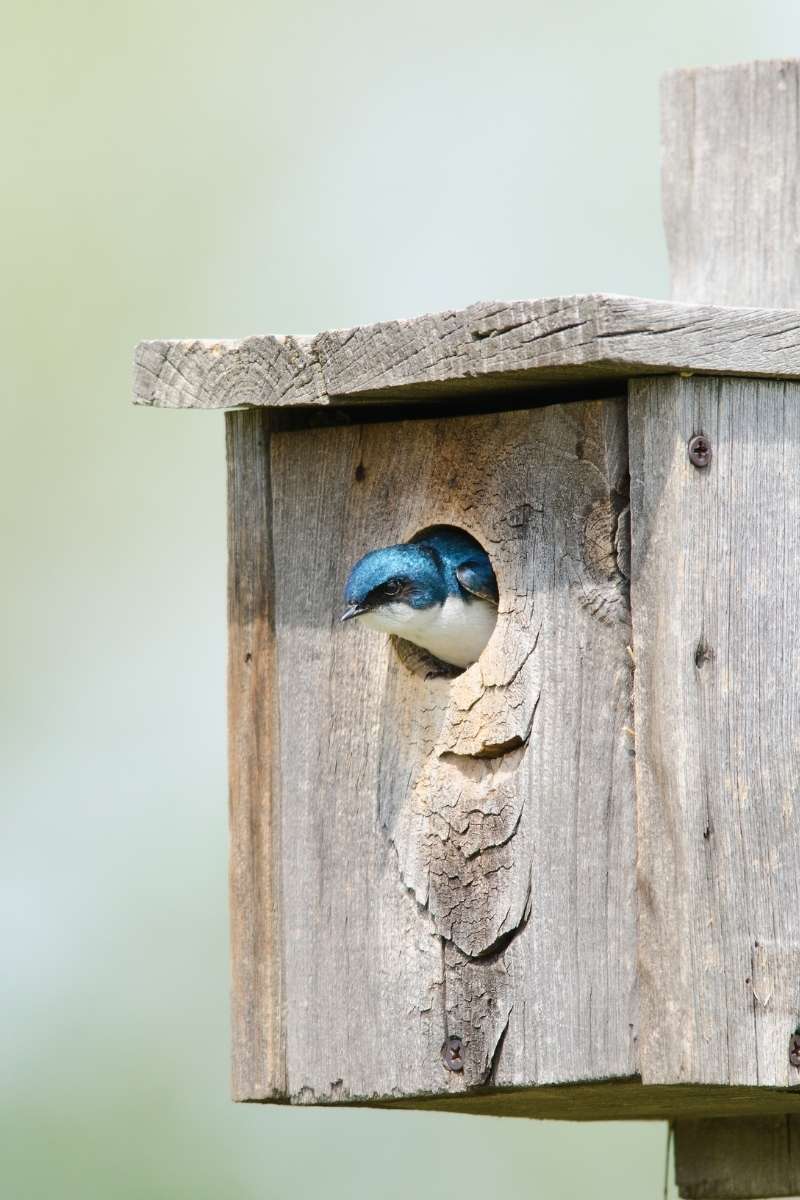
M 143 337 L 666 295 L 657 78 L 792 0 L 106 5 L 0 35 L 0 1194 L 662 1194 L 666 1127 L 228 1100 L 218 414 Z

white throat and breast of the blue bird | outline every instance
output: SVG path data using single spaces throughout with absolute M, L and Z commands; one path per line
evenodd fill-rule
M 413 608 L 396 601 L 356 618 L 368 629 L 404 637 L 443 662 L 468 667 L 485 649 L 497 622 L 498 611 L 486 600 L 447 596 L 443 605 Z

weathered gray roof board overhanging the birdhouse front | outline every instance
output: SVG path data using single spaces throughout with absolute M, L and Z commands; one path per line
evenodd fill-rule
M 800 378 L 800 313 L 558 296 L 313 338 L 143 342 L 134 394 L 164 408 L 324 406 L 673 371 Z

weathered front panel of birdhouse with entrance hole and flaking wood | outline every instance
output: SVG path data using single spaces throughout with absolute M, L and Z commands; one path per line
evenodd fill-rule
M 624 402 L 272 448 L 288 1098 L 630 1078 Z M 487 546 L 501 593 L 453 680 L 338 623 L 349 565 L 438 522 Z

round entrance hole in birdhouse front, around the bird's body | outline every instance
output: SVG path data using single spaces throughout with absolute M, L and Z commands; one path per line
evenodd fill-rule
M 455 679 L 477 661 L 494 632 L 498 595 L 494 569 L 481 542 L 458 526 L 426 526 L 409 542 L 429 550 L 447 586 L 447 595 L 444 604 L 420 610 L 415 631 L 420 642 L 397 636 L 391 641 L 411 674 L 422 679 Z

